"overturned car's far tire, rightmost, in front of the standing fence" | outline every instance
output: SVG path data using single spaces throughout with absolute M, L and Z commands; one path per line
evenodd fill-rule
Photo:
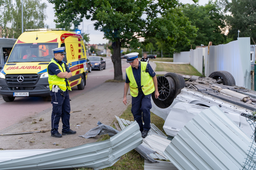
M 236 85 L 236 81 L 233 77 L 233 75 L 230 73 L 230 72 L 227 72 L 227 71 L 215 71 L 215 72 L 212 72 L 210 75 L 209 75 L 210 78 L 213 78 L 215 80 L 219 80 L 221 79 L 222 80 L 222 84 L 223 85 L 226 85 L 226 86 L 233 86 L 233 85 Z

